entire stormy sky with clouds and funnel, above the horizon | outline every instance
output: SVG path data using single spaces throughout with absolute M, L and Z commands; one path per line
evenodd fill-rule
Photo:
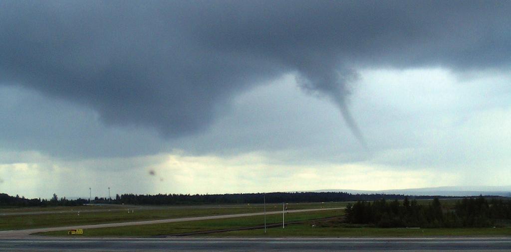
M 1 1 L 0 192 L 509 186 L 511 1 Z

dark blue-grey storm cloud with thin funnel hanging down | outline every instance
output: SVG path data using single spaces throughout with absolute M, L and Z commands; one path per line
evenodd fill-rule
M 0 83 L 168 137 L 285 72 L 346 107 L 359 67 L 507 67 L 511 2 L 0 2 Z

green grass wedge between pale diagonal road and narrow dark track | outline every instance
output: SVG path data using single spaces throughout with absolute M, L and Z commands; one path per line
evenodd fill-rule
M 339 216 L 344 213 L 343 210 L 324 210 L 306 213 L 289 213 L 285 215 L 286 221 L 304 221 L 311 219 L 327 218 Z M 282 223 L 281 214 L 267 215 L 267 223 Z M 200 221 L 185 221 L 163 224 L 149 224 L 136 226 L 122 226 L 119 228 L 101 228 L 84 230 L 83 236 L 86 237 L 147 237 L 162 236 L 172 234 L 191 233 L 198 231 L 211 231 L 219 229 L 246 228 L 264 224 L 264 216 L 250 216 L 240 218 L 226 218 Z M 262 230 L 254 232 L 264 232 Z M 38 235 L 47 236 L 68 236 L 67 231 L 56 231 L 40 233 Z M 77 236 L 78 237 L 78 236 Z

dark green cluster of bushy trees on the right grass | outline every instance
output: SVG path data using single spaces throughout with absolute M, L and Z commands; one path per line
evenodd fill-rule
M 511 219 L 511 200 L 486 199 L 483 196 L 457 200 L 453 208 L 435 197 L 428 205 L 419 205 L 405 197 L 394 200 L 357 201 L 345 210 L 348 223 L 372 224 L 380 228 L 468 228 L 487 227 L 497 220 Z

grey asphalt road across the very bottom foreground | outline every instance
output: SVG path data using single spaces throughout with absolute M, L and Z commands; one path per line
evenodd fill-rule
M 511 250 L 511 238 L 52 239 L 1 240 L 2 251 Z

